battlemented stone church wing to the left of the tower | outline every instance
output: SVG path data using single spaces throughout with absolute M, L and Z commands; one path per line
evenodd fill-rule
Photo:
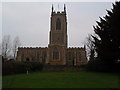
M 47 60 L 47 49 L 47 47 L 20 47 L 17 52 L 17 61 L 38 61 L 45 63 Z

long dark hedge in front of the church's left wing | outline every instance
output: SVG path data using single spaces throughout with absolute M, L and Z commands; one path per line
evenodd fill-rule
M 43 64 L 39 62 L 5 62 L 2 64 L 2 74 L 18 74 L 18 73 L 26 73 L 27 70 L 29 72 L 41 71 L 43 68 Z

